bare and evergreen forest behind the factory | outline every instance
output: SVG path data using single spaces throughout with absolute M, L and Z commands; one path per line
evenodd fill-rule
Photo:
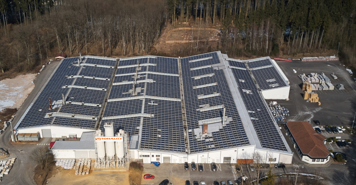
M 27 72 L 61 52 L 150 54 L 167 25 L 189 21 L 220 25 L 219 41 L 194 37 L 176 53 L 295 56 L 333 49 L 354 66 L 355 7 L 356 0 L 0 0 L 0 67 Z

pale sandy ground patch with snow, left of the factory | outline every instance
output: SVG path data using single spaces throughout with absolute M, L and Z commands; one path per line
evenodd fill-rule
M 19 109 L 23 101 L 31 93 L 37 74 L 19 75 L 12 79 L 0 81 L 0 111 L 5 108 Z

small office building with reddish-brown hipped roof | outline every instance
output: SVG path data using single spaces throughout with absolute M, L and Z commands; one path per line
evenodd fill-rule
M 307 121 L 289 121 L 286 131 L 303 162 L 309 164 L 326 164 L 330 152 L 325 146 L 325 136 L 315 132 Z

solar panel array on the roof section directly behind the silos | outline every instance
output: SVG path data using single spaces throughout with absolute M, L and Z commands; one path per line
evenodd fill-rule
M 137 83 L 136 91 L 138 88 L 141 88 L 141 91 L 137 91 L 136 94 L 133 94 L 132 83 L 135 79 L 133 77 L 135 77 L 137 69 L 137 60 L 139 64 L 150 63 L 148 67 L 138 67 L 137 73 L 141 73 L 138 74 L 139 76 L 137 77 L 140 78 L 137 78 L 137 80 L 150 79 L 154 80 L 154 82 Z M 123 81 L 132 81 L 132 83 L 112 85 L 109 100 L 142 95 L 156 96 L 159 99 L 145 98 L 144 105 L 142 105 L 143 98 L 134 100 L 122 99 L 119 101 L 110 100 L 106 104 L 103 117 L 133 115 L 137 113 L 152 114 L 154 117 L 142 117 L 143 121 L 140 148 L 170 152 L 185 152 L 180 102 L 161 100 L 164 98 L 180 98 L 179 77 L 174 75 L 145 73 L 158 72 L 178 74 L 178 60 L 176 58 L 153 58 L 147 56 L 146 58 L 120 60 L 118 65 L 119 68 L 116 71 L 114 83 L 120 83 Z M 130 67 L 129 65 L 133 66 Z M 127 73 L 132 74 L 125 75 Z M 139 116 L 108 120 L 105 119 L 102 121 L 100 128 L 103 128 L 105 122 L 111 121 L 114 122 L 114 129 L 116 129 L 116 131 L 120 128 L 124 129 L 126 132 L 129 132 L 130 136 L 139 133 L 139 129 L 137 129 L 141 122 L 141 117 Z

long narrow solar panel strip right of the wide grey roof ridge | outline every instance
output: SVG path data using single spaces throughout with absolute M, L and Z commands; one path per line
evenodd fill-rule
M 262 147 L 287 151 L 287 148 L 263 103 L 262 97 L 258 94 L 257 87 L 253 83 L 251 75 L 247 70 L 242 69 L 232 68 L 232 72 L 234 73 L 235 80 L 239 86 L 239 91 L 246 109 L 254 112 L 249 112 L 248 114 L 253 118 L 251 121 L 255 127 Z M 240 79 L 245 82 L 240 81 Z M 252 93 L 247 94 L 243 89 L 250 90 Z

